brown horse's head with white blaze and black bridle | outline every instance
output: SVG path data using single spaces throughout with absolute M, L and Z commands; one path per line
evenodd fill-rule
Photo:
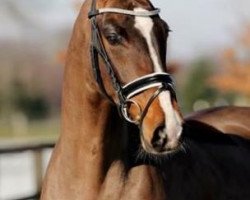
M 151 154 L 180 146 L 182 116 L 166 73 L 169 27 L 147 0 L 92 0 L 85 34 L 94 76 L 91 87 L 137 124 Z M 97 84 L 96 84 L 97 83 Z

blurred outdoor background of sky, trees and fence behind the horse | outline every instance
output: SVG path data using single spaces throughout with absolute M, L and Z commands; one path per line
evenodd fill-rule
M 39 188 L 51 150 L 31 149 L 60 132 L 65 51 L 82 2 L 0 1 L 0 199 Z M 250 106 L 250 1 L 152 2 L 172 30 L 167 64 L 183 113 Z

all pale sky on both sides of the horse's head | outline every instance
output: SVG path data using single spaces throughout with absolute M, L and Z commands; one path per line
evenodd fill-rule
M 72 29 L 73 0 L 1 0 L 0 40 Z M 250 21 L 249 0 L 152 0 L 171 30 L 169 57 L 193 59 L 235 42 Z M 11 12 L 12 11 L 12 12 Z M 14 12 L 13 12 L 14 11 Z

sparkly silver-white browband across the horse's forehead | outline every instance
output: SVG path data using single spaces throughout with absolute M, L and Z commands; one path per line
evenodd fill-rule
M 133 10 L 126 10 L 121 8 L 100 8 L 98 10 L 91 10 L 88 14 L 89 18 L 92 18 L 96 15 L 103 14 L 103 13 L 116 13 L 116 14 L 123 14 L 123 15 L 132 15 L 138 17 L 150 17 L 155 16 L 160 13 L 160 9 L 157 8 L 155 10 L 141 10 L 141 11 L 133 11 Z

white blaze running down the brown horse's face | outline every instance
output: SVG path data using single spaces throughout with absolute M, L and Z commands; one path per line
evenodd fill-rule
M 135 8 L 134 11 L 145 10 L 142 8 Z M 153 20 L 150 17 L 135 17 L 135 28 L 137 28 L 141 32 L 147 42 L 150 57 L 154 65 L 154 71 L 163 72 L 159 56 L 157 55 L 157 51 L 153 46 L 153 40 L 151 37 L 151 34 L 153 34 L 153 25 Z M 174 147 L 182 132 L 181 117 L 173 108 L 169 91 L 162 92 L 159 95 L 159 101 L 165 114 L 166 131 L 164 134 L 167 134 L 169 139 L 169 144 L 167 145 L 169 145 L 169 147 Z

